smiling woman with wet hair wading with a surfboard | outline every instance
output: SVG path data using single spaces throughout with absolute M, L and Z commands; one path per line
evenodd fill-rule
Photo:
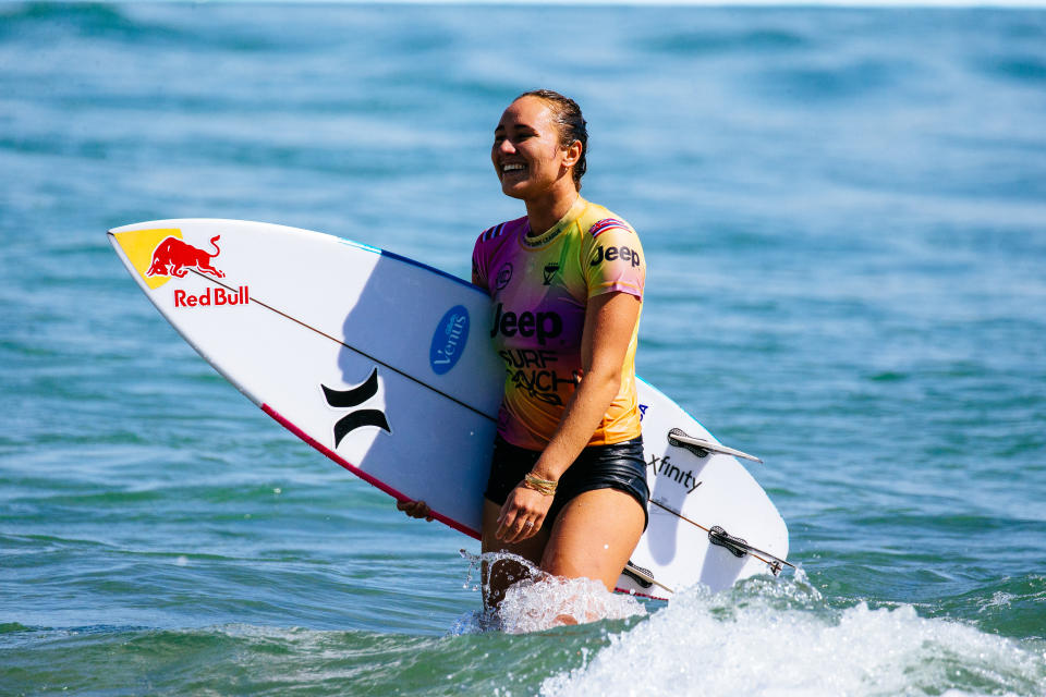
M 550 90 L 518 97 L 495 130 L 501 191 L 526 216 L 473 252 L 507 368 L 483 551 L 612 590 L 647 521 L 634 367 L 646 266 L 632 228 L 580 195 L 587 138 L 577 105 Z M 488 607 L 525 575 L 510 561 L 485 571 Z

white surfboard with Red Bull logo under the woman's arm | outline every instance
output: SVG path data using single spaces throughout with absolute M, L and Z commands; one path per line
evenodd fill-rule
M 266 414 L 479 537 L 507 369 L 482 289 L 378 247 L 260 222 L 160 220 L 109 240 L 160 314 Z M 745 453 L 645 381 L 638 391 L 649 525 L 618 590 L 667 599 L 779 573 L 788 530 L 734 456 Z

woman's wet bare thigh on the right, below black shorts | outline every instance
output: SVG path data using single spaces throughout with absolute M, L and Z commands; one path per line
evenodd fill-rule
M 556 576 L 600 580 L 613 590 L 645 522 L 638 502 L 619 489 L 580 493 L 556 517 L 542 568 Z

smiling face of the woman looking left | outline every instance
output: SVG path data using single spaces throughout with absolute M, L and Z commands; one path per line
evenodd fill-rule
M 569 183 L 580 144 L 560 146 L 559 125 L 548 105 L 536 97 L 516 99 L 501 114 L 494 131 L 490 160 L 501 191 L 513 198 L 531 199 Z

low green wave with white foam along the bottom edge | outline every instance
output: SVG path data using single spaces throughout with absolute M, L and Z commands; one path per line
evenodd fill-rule
M 568 586 L 546 585 L 544 592 L 559 601 L 589 592 L 574 610 L 608 601 L 605 590 Z M 1041 584 L 1030 590 L 1038 597 Z M 911 604 L 826 597 L 802 570 L 716 595 L 691 587 L 667 604 L 616 598 L 618 619 L 556 628 L 548 628 L 557 624 L 548 612 L 534 612 L 547 598 L 532 587 L 521 589 L 521 611 L 503 612 L 500 631 L 474 625 L 418 636 L 250 624 L 157 629 L 13 622 L 0 625 L 0 646 L 17 675 L 14 685 L 31 689 L 544 697 L 1046 692 L 1046 641 L 922 616 Z M 1013 600 L 999 595 L 993 602 Z

